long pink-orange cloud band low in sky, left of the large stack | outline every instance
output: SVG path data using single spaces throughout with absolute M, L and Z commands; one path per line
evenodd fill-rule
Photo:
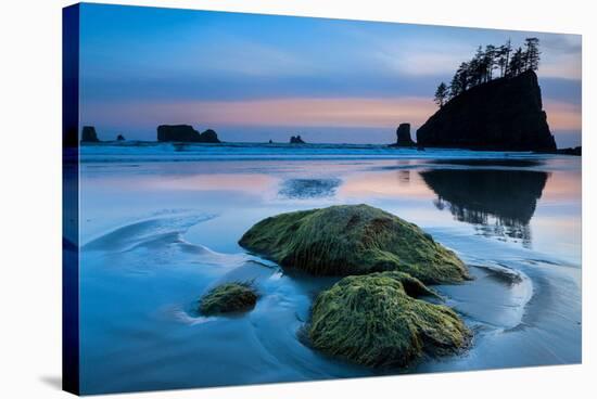
M 201 126 L 395 127 L 422 124 L 436 106 L 427 98 L 274 99 L 88 105 L 85 119 Z

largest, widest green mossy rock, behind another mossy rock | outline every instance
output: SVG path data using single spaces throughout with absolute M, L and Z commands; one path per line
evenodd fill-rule
M 424 283 L 469 279 L 465 263 L 431 235 L 368 205 L 274 216 L 253 226 L 239 244 L 282 267 L 315 275 L 397 270 Z

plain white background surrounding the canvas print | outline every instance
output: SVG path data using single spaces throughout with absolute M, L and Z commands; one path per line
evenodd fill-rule
M 583 35 L 583 365 L 136 394 L 131 398 L 583 398 L 595 345 L 594 2 L 524 0 L 104 1 Z M 61 8 L 4 0 L 0 13 L 0 397 L 62 398 Z M 593 74 L 592 74 L 593 72 Z M 593 124 L 595 126 L 595 124 Z M 593 241 L 593 244 L 592 244 Z

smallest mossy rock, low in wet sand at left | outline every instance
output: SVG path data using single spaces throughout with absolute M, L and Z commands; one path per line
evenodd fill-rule
M 257 293 L 251 284 L 226 283 L 201 298 L 199 311 L 205 316 L 243 312 L 253 309 L 256 303 Z

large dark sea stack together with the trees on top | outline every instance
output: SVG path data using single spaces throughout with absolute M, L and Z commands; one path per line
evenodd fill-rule
M 552 152 L 556 141 L 543 111 L 535 70 L 538 39 L 524 48 L 481 47 L 435 92 L 440 110 L 417 130 L 424 147 Z M 495 76 L 497 75 L 497 78 Z

